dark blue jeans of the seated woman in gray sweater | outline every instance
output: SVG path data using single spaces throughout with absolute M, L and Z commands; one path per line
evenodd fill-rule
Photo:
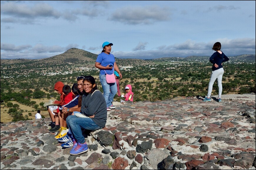
M 82 134 L 82 129 L 87 130 L 98 130 L 102 129 L 102 127 L 98 126 L 91 118 L 83 118 L 83 117 L 76 117 L 75 115 L 69 115 L 66 119 L 67 127 L 69 128 L 73 137 L 79 143 L 84 143 L 84 136 Z

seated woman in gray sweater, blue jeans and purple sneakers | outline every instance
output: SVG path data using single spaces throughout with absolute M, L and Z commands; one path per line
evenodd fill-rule
M 106 100 L 95 84 L 92 76 L 84 78 L 84 95 L 82 98 L 81 113 L 87 117 L 69 115 L 66 119 L 73 139 L 71 155 L 82 154 L 88 151 L 87 144 L 82 134 L 82 129 L 98 130 L 105 127 L 107 122 Z

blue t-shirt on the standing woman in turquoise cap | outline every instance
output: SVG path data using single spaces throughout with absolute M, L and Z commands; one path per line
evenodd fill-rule
M 114 57 L 113 54 L 111 54 L 111 53 L 106 54 L 106 53 L 102 52 L 98 55 L 98 57 L 96 59 L 96 62 L 100 63 L 100 65 L 105 66 L 105 67 L 109 64 L 113 65 L 112 69 L 107 69 L 107 70 L 100 69 L 99 74 L 104 75 L 106 73 L 107 74 L 113 74 L 114 73 L 113 69 L 114 69 L 114 63 L 116 62 L 116 60 L 115 60 L 115 57 Z

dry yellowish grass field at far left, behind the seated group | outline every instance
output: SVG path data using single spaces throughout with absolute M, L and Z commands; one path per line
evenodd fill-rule
M 41 102 L 48 102 L 49 101 L 49 99 L 46 99 L 46 98 L 45 99 L 32 99 L 32 100 L 35 101 L 36 104 L 38 104 L 38 105 Z M 9 101 L 9 102 L 12 102 L 13 104 L 18 104 L 19 105 L 18 110 L 20 110 L 20 109 L 24 110 L 23 117 L 25 117 L 25 115 L 28 115 L 29 119 L 30 118 L 35 119 L 35 115 L 37 113 L 37 110 L 35 110 L 35 108 L 33 108 L 31 106 L 29 107 L 29 106 L 26 106 L 26 105 L 22 105 L 22 104 L 20 104 L 16 101 Z M 41 107 L 41 106 L 39 105 L 39 107 Z M 11 107 L 7 107 L 7 106 L 4 107 L 4 105 L 1 104 L 1 122 L 11 122 L 12 117 L 7 113 L 9 108 L 11 108 Z M 48 111 L 46 110 L 46 107 L 40 108 L 39 110 L 41 110 L 41 112 L 40 112 L 41 116 L 50 117 Z M 31 113 L 32 115 L 29 116 L 29 113 Z

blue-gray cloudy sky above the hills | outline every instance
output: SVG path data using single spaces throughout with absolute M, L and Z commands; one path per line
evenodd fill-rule
M 1 1 L 1 59 L 113 43 L 116 58 L 255 54 L 255 1 Z

